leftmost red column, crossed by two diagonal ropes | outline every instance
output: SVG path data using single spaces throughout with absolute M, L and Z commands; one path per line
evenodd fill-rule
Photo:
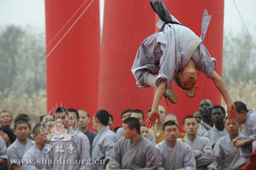
M 57 102 L 90 116 L 97 111 L 99 8 L 98 0 L 46 0 L 46 43 L 67 24 L 46 50 L 48 111 Z

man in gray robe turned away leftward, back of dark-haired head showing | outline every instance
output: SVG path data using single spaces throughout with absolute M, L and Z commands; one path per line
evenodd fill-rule
M 92 145 L 92 170 L 106 169 L 110 153 L 118 139 L 109 129 L 109 113 L 105 110 L 98 111 L 93 117 L 93 129 L 97 131 Z

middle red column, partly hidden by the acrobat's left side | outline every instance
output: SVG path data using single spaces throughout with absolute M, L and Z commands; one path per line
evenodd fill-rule
M 114 126 L 122 126 L 125 109 L 151 108 L 154 88 L 137 87 L 131 67 L 141 42 L 154 32 L 150 0 L 105 1 L 98 109 L 114 116 Z

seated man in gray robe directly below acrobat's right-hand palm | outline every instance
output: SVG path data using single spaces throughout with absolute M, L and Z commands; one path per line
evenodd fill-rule
M 244 158 L 241 154 L 241 148 L 236 148 L 232 142 L 233 139 L 241 137 L 238 131 L 236 121 L 229 122 L 225 118 L 225 128 L 229 134 L 221 137 L 213 148 L 213 163 L 208 166 L 209 170 L 238 170 L 249 162 L 249 158 Z

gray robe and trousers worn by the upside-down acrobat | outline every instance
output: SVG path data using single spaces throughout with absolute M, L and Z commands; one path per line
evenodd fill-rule
M 171 17 L 179 22 L 174 16 L 171 15 Z M 137 86 L 149 87 L 143 83 L 143 73 L 147 70 L 150 70 L 152 74 L 158 74 L 156 87 L 160 80 L 166 81 L 166 89 L 171 81 L 177 86 L 176 73 L 187 65 L 190 58 L 195 62 L 197 70 L 212 79 L 216 69 L 216 59 L 210 56 L 202 43 L 209 22 L 210 16 L 205 10 L 201 38 L 188 27 L 179 24 L 166 24 L 163 32 L 156 32 L 147 37 L 139 47 L 131 68 L 137 80 Z

